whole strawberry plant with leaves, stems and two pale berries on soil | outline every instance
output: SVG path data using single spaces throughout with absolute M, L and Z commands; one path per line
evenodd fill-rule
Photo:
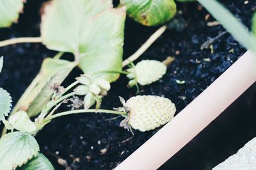
M 190 0 L 179 0 L 189 2 Z M 212 15 L 220 20 L 229 32 L 246 48 L 255 48 L 252 32 L 232 17 L 215 1 L 200 1 Z M 2 1 L 1 6 L 12 8 L 10 13 L 0 13 L 0 27 L 8 27 L 19 17 L 23 1 Z M 214 8 L 215 10 L 214 10 Z M 216 9 L 220 10 L 217 13 Z M 128 1 L 122 0 L 118 8 L 112 1 L 54 0 L 45 6 L 42 15 L 41 36 L 38 38 L 17 38 L 0 42 L 0 46 L 22 42 L 42 42 L 50 50 L 59 53 L 46 58 L 40 73 L 20 97 L 12 113 L 10 94 L 0 88 L 0 121 L 6 127 L 0 139 L 0 164 L 3 169 L 53 169 L 51 162 L 40 153 L 34 136 L 53 119 L 78 113 L 111 113 L 121 115 L 124 120 L 120 127 L 132 132 L 150 131 L 170 122 L 175 115 L 175 104 L 170 99 L 159 96 L 134 96 L 114 110 L 100 108 L 103 97 L 111 89 L 110 83 L 118 80 L 120 74 L 129 78 L 129 87 L 150 85 L 160 80 L 166 73 L 168 64 L 157 60 L 132 62 L 147 50 L 167 29 L 163 25 L 141 48 L 127 60 L 122 59 L 126 13 L 143 25 L 161 25 L 170 21 L 177 12 L 175 1 Z M 221 16 L 227 15 L 227 18 Z M 253 32 L 255 31 L 255 18 Z M 61 59 L 68 53 L 68 60 Z M 125 68 L 125 66 L 129 68 Z M 0 58 L 0 72 L 3 57 Z M 83 74 L 74 83 L 64 88 L 61 83 L 68 74 L 79 67 Z M 184 84 L 185 81 L 176 81 Z M 78 96 L 78 97 L 77 97 Z M 79 100 L 83 97 L 83 101 Z M 70 103 L 71 110 L 58 112 L 63 103 Z M 83 109 L 80 109 L 83 106 Z M 95 108 L 92 108 L 95 106 Z M 10 113 L 10 117 L 6 117 Z M 34 117 L 35 120 L 31 119 Z

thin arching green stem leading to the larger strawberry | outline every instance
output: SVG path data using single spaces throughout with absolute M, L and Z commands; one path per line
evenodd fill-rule
M 51 115 L 51 117 L 45 118 L 44 122 L 50 121 L 57 117 L 62 117 L 65 115 L 72 115 L 77 113 L 111 113 L 116 115 L 127 115 L 127 113 L 122 111 L 115 111 L 115 110 L 96 110 L 96 109 L 89 109 L 89 110 L 70 110 L 70 111 L 64 111 L 61 113 L 57 113 L 55 115 Z

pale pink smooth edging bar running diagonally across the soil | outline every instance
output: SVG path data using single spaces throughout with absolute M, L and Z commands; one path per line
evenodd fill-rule
M 195 138 L 255 81 L 256 59 L 248 51 L 115 170 L 157 169 Z

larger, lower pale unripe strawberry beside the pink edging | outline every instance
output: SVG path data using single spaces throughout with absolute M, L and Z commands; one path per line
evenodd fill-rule
M 159 96 L 131 97 L 125 107 L 129 110 L 126 122 L 133 129 L 138 129 L 141 132 L 150 131 L 166 124 L 172 120 L 176 111 L 172 101 Z M 122 122 L 122 126 L 124 123 Z

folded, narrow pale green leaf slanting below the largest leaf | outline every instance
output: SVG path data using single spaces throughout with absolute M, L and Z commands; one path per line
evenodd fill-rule
M 61 84 L 76 65 L 75 62 L 67 60 L 45 59 L 40 73 L 24 92 L 12 114 L 22 110 L 28 111 L 29 117 L 38 115 L 51 99 L 54 84 Z

